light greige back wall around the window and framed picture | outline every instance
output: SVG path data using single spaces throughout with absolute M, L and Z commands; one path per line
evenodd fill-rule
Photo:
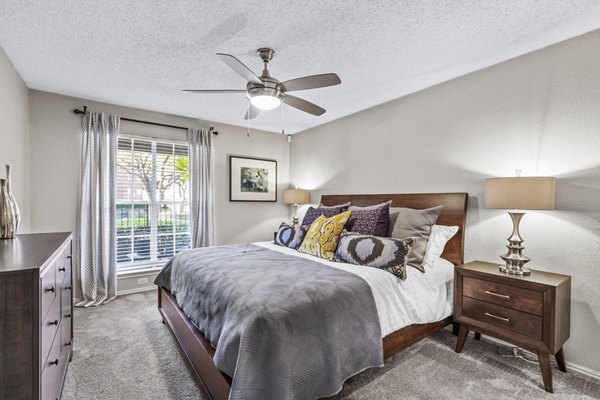
M 73 109 L 116 113 L 122 117 L 171 125 L 206 128 L 208 123 L 191 118 L 160 114 L 59 94 L 32 90 L 31 107 L 31 230 L 74 231 L 80 162 L 81 116 Z M 251 131 L 230 125 L 214 125 L 215 229 L 217 244 L 269 240 L 288 208 L 281 192 L 288 186 L 289 144 L 283 135 Z M 121 132 L 134 135 L 186 140 L 186 131 L 122 121 Z M 278 202 L 239 203 L 229 201 L 230 154 L 269 158 L 278 162 Z M 150 280 L 151 284 L 151 280 Z M 120 288 L 135 290 L 132 280 Z M 120 289 L 121 290 L 121 289 Z

